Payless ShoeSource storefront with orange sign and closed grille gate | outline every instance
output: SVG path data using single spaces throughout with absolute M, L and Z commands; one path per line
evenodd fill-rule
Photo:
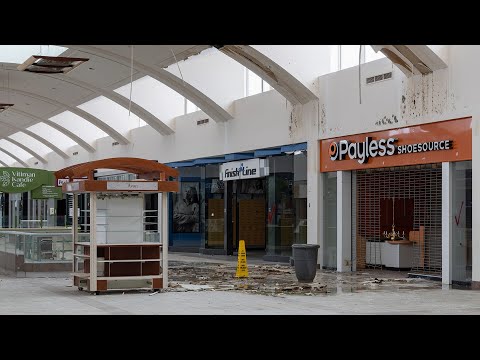
M 320 142 L 324 268 L 470 283 L 472 119 Z

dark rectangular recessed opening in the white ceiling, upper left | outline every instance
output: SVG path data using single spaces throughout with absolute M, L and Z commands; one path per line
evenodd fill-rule
M 23 64 L 18 65 L 17 70 L 40 74 L 66 74 L 88 60 L 87 58 L 33 55 Z

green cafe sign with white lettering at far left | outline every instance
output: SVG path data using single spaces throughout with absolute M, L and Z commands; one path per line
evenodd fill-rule
M 53 185 L 55 177 L 51 171 L 28 168 L 0 168 L 0 191 L 5 193 L 22 193 Z

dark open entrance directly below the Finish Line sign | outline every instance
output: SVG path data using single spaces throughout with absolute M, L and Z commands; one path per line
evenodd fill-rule
M 238 249 L 240 240 L 245 240 L 249 250 L 265 250 L 266 245 L 266 200 L 265 179 L 234 180 L 231 182 L 231 241 Z

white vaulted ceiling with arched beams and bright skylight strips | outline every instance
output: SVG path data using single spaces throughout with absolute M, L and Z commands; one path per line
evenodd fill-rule
M 60 74 L 18 70 L 32 55 L 88 61 Z M 220 65 L 209 67 L 211 61 Z M 0 151 L 3 144 L 21 161 L 45 163 L 49 153 L 68 159 L 76 144 L 94 153 L 105 136 L 129 144 L 140 126 L 170 136 L 185 99 L 213 122 L 229 121 L 244 86 L 229 82 L 242 82 L 245 68 L 294 105 L 317 99 L 280 63 L 250 45 L 0 45 L 0 103 L 13 104 L 0 112 Z M 3 152 L 0 160 L 16 161 Z

